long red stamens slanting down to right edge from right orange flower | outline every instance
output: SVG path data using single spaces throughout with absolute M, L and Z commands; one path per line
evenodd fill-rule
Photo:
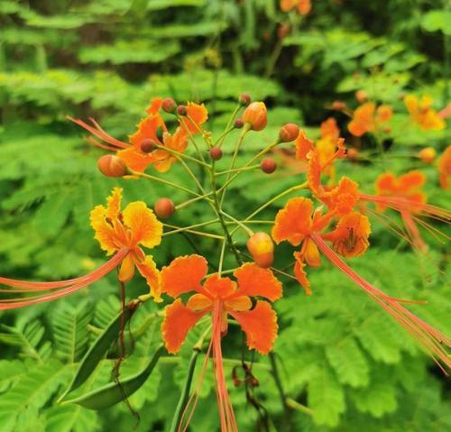
M 318 235 L 312 234 L 311 239 L 317 244 L 319 250 L 324 253 L 327 259 L 332 262 L 340 271 L 359 285 L 364 291 L 375 299 L 379 305 L 384 308 L 392 317 L 394 317 L 400 326 L 404 327 L 421 345 L 432 359 L 437 363 L 440 369 L 445 372 L 445 368 L 451 367 L 449 358 L 444 345 L 451 346 L 451 340 L 446 335 L 439 332 L 436 328 L 429 326 L 419 317 L 416 317 L 410 310 L 402 307 L 400 299 L 394 299 L 387 296 L 381 290 L 375 288 L 371 283 L 361 278 L 353 271 Z

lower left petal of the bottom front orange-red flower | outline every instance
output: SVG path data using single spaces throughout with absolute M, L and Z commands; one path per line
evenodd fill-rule
M 161 323 L 161 333 L 166 349 L 176 354 L 183 344 L 189 330 L 207 312 L 194 312 L 187 308 L 180 299 L 175 300 L 164 309 L 164 319 Z

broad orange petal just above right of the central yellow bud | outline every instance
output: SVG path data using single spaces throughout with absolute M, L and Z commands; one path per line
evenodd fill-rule
M 297 246 L 310 233 L 313 203 L 308 198 L 291 198 L 279 210 L 272 227 L 272 238 L 276 244 L 287 240 Z

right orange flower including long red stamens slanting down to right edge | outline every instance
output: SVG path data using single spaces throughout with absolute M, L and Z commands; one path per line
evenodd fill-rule
M 339 253 L 352 257 L 366 251 L 370 234 L 368 218 L 357 212 L 349 213 L 339 219 L 335 230 L 323 234 L 322 231 L 329 221 L 328 216 L 322 216 L 320 209 L 311 216 L 312 208 L 313 203 L 308 198 L 290 199 L 277 214 L 272 230 L 272 237 L 277 244 L 282 241 L 288 241 L 294 246 L 302 244 L 300 252 L 294 253 L 294 272 L 306 292 L 310 294 L 311 290 L 304 267 L 306 263 L 318 266 L 322 253 L 408 331 L 446 372 L 446 368 L 451 366 L 451 359 L 444 346 L 451 345 L 450 339 L 402 306 L 402 303 L 415 303 L 414 301 L 395 299 L 378 290 L 355 273 L 338 255 Z M 327 242 L 332 242 L 333 248 Z

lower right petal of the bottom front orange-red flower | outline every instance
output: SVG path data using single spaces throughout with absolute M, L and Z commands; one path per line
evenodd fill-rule
M 258 300 L 255 308 L 245 312 L 229 312 L 247 336 L 247 346 L 261 354 L 272 350 L 277 337 L 277 315 L 267 301 Z

